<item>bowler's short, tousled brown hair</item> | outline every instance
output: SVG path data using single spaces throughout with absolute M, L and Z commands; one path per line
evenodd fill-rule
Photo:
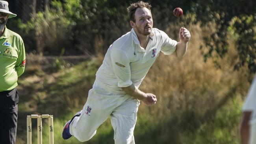
M 139 2 L 133 3 L 129 7 L 127 7 L 130 20 L 135 22 L 135 11 L 136 11 L 136 9 L 137 8 L 143 8 L 143 7 L 146 7 L 147 9 L 150 10 L 151 5 L 148 4 L 147 2 L 139 1 Z

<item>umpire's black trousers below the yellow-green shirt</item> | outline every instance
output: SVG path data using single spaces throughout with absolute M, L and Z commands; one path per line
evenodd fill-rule
M 17 89 L 0 92 L 0 143 L 15 144 L 19 94 Z

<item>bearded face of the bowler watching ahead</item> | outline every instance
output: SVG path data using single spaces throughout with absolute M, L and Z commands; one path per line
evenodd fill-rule
M 135 11 L 135 25 L 132 26 L 135 31 L 142 35 L 149 35 L 153 28 L 152 14 L 146 7 L 137 8 Z

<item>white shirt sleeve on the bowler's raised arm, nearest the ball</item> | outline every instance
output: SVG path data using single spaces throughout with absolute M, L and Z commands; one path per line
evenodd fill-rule
M 161 31 L 161 35 L 163 37 L 163 45 L 161 46 L 161 52 L 165 55 L 173 54 L 176 50 L 177 41 L 169 38 L 169 36 Z

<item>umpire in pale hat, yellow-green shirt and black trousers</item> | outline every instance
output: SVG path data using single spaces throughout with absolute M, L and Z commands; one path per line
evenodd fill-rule
M 17 80 L 25 69 L 25 48 L 19 34 L 8 30 L 8 2 L 0 0 L 0 143 L 15 144 L 19 94 Z

